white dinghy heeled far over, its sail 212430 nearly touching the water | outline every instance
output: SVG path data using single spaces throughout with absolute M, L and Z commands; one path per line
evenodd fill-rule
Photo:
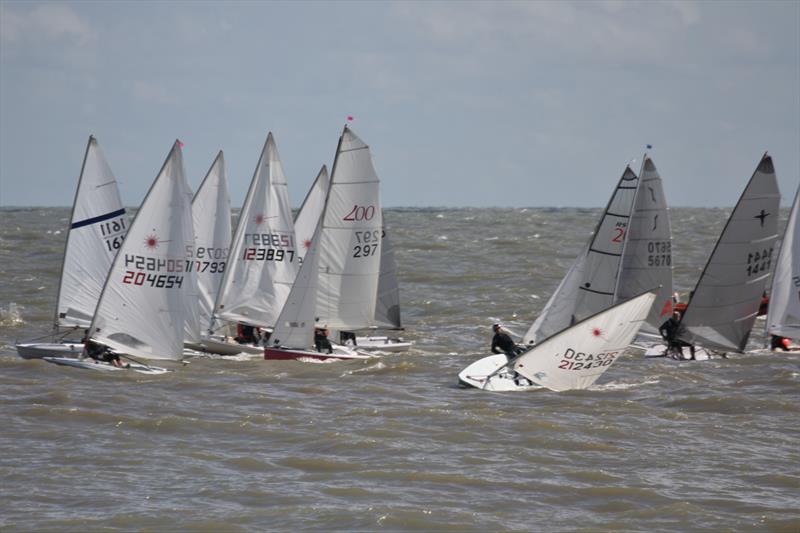
M 616 304 L 511 361 L 505 354 L 480 359 L 461 371 L 459 383 L 495 392 L 586 389 L 625 352 L 655 299 L 655 292 L 646 292 Z

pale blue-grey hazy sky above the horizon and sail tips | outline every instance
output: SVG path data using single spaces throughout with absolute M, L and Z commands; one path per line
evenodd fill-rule
M 176 138 L 297 207 L 347 117 L 386 207 L 601 207 L 646 145 L 672 206 L 800 183 L 800 2 L 0 0 L 0 206 L 68 206 L 95 135 L 137 206 Z

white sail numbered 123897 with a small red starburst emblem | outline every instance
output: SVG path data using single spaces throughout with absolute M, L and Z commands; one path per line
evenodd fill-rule
M 274 326 L 297 275 L 295 243 L 286 176 L 270 133 L 239 215 L 216 316 Z

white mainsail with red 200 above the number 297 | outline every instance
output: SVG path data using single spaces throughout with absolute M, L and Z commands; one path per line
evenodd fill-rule
M 369 147 L 349 128 L 339 139 L 322 215 L 317 316 L 354 330 L 375 324 L 383 216 Z

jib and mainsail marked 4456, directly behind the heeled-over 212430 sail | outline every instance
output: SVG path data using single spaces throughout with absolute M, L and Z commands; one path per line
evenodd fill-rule
M 625 167 L 589 243 L 523 337 L 523 343 L 546 339 L 613 304 L 638 183 L 636 174 Z

